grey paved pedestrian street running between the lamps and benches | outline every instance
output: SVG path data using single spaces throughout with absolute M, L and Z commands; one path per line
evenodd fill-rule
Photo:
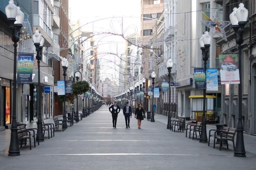
M 219 146 L 213 149 L 213 142 L 208 147 L 206 143 L 186 138 L 185 133 L 166 129 L 167 122 L 162 123 L 164 117 L 156 115 L 155 120 L 154 123 L 143 120 L 142 129 L 137 129 L 133 117 L 131 128 L 125 129 L 120 113 L 114 129 L 111 113 L 107 106 L 102 106 L 66 131 L 59 130 L 50 139 L 46 137 L 36 148 L 20 149 L 21 156 L 6 156 L 9 146 L 1 149 L 0 170 L 255 169 L 256 149 L 248 145 L 255 147 L 256 138 L 252 143 L 245 138 L 247 157 L 233 157 L 232 149 L 224 147 L 219 151 Z M 6 134 L 6 138 L 2 139 L 1 134 Z M 9 143 L 7 132 L 0 132 L 0 137 L 0 145 Z

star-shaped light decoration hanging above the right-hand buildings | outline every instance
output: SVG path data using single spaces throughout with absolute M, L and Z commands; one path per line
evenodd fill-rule
M 231 24 L 230 21 L 222 21 L 217 17 L 217 11 L 215 14 L 211 13 L 213 15 L 213 20 L 211 20 L 203 11 L 203 16 L 206 19 L 206 21 L 201 21 L 210 29 L 209 35 L 211 37 L 214 37 L 215 35 L 218 35 L 219 37 L 223 38 L 223 40 L 227 41 L 225 28 Z

